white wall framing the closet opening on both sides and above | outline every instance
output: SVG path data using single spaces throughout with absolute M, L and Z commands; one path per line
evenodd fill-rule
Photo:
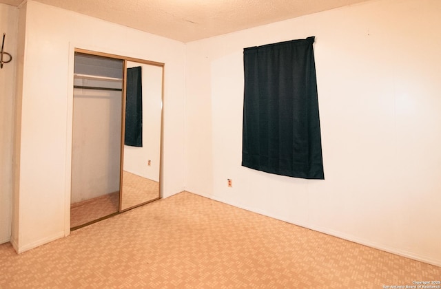
M 21 14 L 14 248 L 69 233 L 74 47 L 165 63 L 163 197 L 183 191 L 185 45 L 34 1 Z

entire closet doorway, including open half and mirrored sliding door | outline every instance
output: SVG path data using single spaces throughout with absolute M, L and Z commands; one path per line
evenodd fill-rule
M 71 231 L 161 198 L 164 63 L 74 51 Z

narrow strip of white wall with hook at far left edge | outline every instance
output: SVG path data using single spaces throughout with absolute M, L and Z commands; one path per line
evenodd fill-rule
M 12 220 L 12 139 L 19 10 L 0 4 L 0 41 L 6 33 L 4 52 L 12 55 L 0 69 L 0 244 L 9 242 Z M 1 44 L 0 44 L 1 45 Z M 1 47 L 0 47 L 1 49 Z M 4 55 L 3 61 L 9 56 Z

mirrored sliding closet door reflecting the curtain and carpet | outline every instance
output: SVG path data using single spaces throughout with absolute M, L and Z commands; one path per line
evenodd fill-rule
M 121 211 L 160 197 L 163 65 L 127 61 Z

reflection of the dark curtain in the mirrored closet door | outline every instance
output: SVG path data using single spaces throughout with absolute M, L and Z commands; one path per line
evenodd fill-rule
M 141 66 L 127 68 L 124 144 L 132 147 L 143 146 L 143 86 Z

